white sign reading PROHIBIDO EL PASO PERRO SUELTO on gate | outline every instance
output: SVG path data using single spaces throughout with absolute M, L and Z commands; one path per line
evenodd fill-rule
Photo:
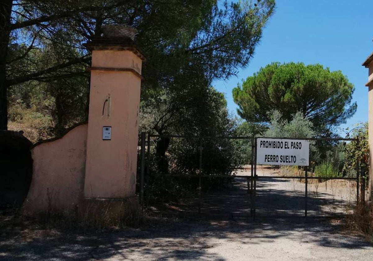
M 301 139 L 257 139 L 257 164 L 308 166 L 310 141 Z

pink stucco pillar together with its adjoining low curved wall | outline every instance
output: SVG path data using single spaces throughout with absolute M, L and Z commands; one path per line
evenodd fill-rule
M 141 65 L 132 51 L 93 50 L 88 124 L 32 149 L 26 212 L 135 196 Z M 103 140 L 104 126 L 111 140 Z

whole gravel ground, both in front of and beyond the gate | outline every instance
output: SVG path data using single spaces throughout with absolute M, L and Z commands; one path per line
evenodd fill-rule
M 275 178 L 258 183 L 255 221 L 246 184 L 236 179 L 231 189 L 205 193 L 201 215 L 197 198 L 150 208 L 157 217 L 141 229 L 82 233 L 0 226 L 0 260 L 373 260 L 372 243 L 353 235 L 343 220 L 303 216 L 304 184 Z M 324 201 L 315 202 L 322 204 L 315 207 L 310 199 L 310 214 L 351 201 L 328 188 L 318 188 Z

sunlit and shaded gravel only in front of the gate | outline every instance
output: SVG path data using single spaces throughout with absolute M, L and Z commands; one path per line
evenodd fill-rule
M 2 238 L 0 260 L 373 260 L 370 243 L 343 231 L 338 223 L 312 218 L 167 222 L 94 234 L 28 232 Z

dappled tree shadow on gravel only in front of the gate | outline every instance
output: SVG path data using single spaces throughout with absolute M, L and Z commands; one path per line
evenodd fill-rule
M 327 248 L 363 249 L 364 240 L 340 234 L 330 220 L 170 221 L 148 220 L 141 229 L 93 233 L 2 228 L 1 260 L 225 260 L 207 251 L 224 242 L 257 245 L 291 238 Z M 110 260 L 110 259 L 109 259 Z

